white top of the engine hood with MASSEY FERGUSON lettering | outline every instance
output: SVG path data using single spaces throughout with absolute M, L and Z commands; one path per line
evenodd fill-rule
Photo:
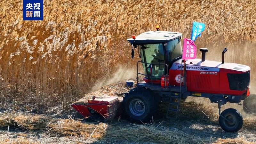
M 180 64 L 180 63 L 181 63 L 181 59 L 175 61 L 172 66 L 175 67 L 175 64 Z M 211 61 L 211 60 L 205 60 L 204 62 L 202 62 L 201 59 L 187 60 L 186 64 L 187 64 L 187 70 L 202 70 L 201 67 L 207 67 L 209 71 L 219 71 L 220 68 L 223 68 L 229 71 L 230 70 L 234 72 L 236 71 L 238 73 L 244 73 L 248 70 L 251 70 L 249 66 L 245 66 L 241 64 L 228 63 L 228 62 L 221 64 L 221 62 Z M 196 67 L 193 67 L 193 66 L 196 66 Z

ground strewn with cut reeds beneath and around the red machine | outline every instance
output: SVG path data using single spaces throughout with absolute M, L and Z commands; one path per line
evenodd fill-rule
M 86 95 L 119 96 L 127 92 L 124 82 L 102 87 Z M 173 119 L 164 118 L 166 106 L 159 106 L 159 115 L 149 124 L 130 124 L 123 116 L 106 123 L 83 119 L 75 111 L 60 116 L 31 112 L 2 111 L 0 141 L 2 143 L 243 143 L 256 142 L 256 117 L 244 117 L 244 126 L 237 133 L 224 132 L 218 124 L 217 107 L 199 102 L 182 102 Z M 75 119 L 76 118 L 76 119 Z M 8 129 L 9 128 L 9 129 Z

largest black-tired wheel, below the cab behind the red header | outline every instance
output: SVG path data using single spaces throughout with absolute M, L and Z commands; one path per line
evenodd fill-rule
M 156 115 L 154 96 L 146 88 L 134 88 L 130 90 L 124 96 L 123 107 L 127 119 L 135 123 L 149 122 Z

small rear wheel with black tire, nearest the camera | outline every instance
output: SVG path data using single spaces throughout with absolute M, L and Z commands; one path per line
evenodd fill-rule
M 219 117 L 220 127 L 224 131 L 237 132 L 242 128 L 244 120 L 243 120 L 243 116 L 238 110 L 234 108 L 228 108 L 228 109 L 225 109 L 221 113 L 221 115 L 227 118 L 228 120 L 231 120 L 231 122 L 228 122 L 223 117 L 221 116 Z

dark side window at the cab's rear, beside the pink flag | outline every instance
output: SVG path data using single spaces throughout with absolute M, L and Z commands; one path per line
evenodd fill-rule
M 167 44 L 165 44 L 165 49 L 167 53 L 168 66 L 171 67 L 172 60 L 182 56 L 180 38 L 167 42 Z

